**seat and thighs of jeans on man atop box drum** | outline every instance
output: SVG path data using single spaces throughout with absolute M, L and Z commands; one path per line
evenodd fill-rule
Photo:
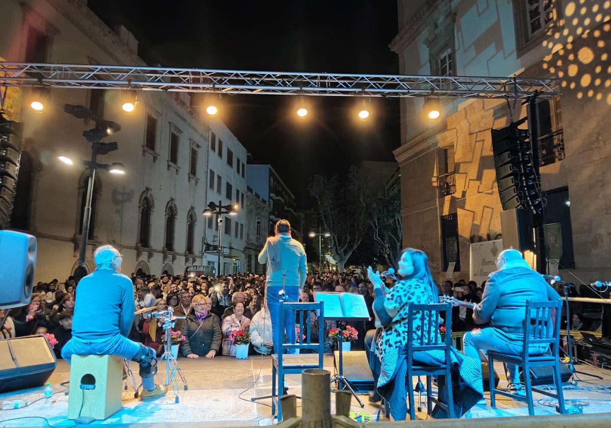
M 95 340 L 73 337 L 62 348 L 62 358 L 68 364 L 72 355 L 117 355 L 125 360 L 132 360 L 141 349 L 141 344 L 120 334 Z

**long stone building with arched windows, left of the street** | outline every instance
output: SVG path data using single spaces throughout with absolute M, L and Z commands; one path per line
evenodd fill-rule
M 0 27 L 4 60 L 145 65 L 137 56 L 133 35 L 125 27 L 110 29 L 84 1 L 7 0 L 2 2 Z M 223 138 L 231 141 L 236 156 L 246 161 L 246 151 L 226 126 L 191 109 L 188 94 L 138 91 L 139 104 L 130 115 L 120 109 L 118 90 L 51 89 L 41 113 L 28 106 L 32 94 L 29 89 L 10 88 L 7 105 L 9 118 L 24 126 L 11 223 L 38 239 L 36 281 L 64 280 L 76 267 L 81 245 L 87 170 L 79 160 L 91 156 L 82 132 L 94 124 L 66 114 L 65 103 L 90 107 L 122 125 L 120 132 L 104 139 L 116 141 L 119 150 L 98 161 L 122 162 L 126 175 L 98 170 L 87 269 L 93 268 L 92 251 L 101 244 L 119 248 L 128 275 L 180 274 L 185 266 L 205 264 L 200 241 L 206 224 L 201 214 L 207 204 L 211 136 L 226 134 Z M 75 165 L 57 161 L 60 154 L 70 154 Z M 229 175 L 224 175 L 226 182 Z M 244 167 L 234 179 L 236 189 L 244 192 Z M 240 203 L 244 204 L 242 198 Z M 244 214 L 238 218 L 244 224 Z M 241 250 L 244 240 L 234 237 L 232 231 L 233 247 Z

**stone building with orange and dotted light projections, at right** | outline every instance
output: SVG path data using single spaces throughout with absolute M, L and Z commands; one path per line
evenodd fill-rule
M 390 48 L 401 74 L 554 78 L 562 92 L 532 109 L 442 98 L 437 122 L 424 117 L 423 99 L 403 98 L 394 154 L 404 245 L 428 253 L 437 279 L 456 261 L 455 280 L 469 280 L 469 244 L 502 238 L 491 129 L 528 116 L 544 159 L 545 223 L 562 228 L 560 275 L 575 283 L 608 278 L 610 2 L 400 0 L 398 16 Z

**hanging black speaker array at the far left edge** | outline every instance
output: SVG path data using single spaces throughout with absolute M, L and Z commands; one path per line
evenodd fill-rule
M 13 209 L 21 148 L 21 123 L 0 114 L 0 229 L 9 225 Z

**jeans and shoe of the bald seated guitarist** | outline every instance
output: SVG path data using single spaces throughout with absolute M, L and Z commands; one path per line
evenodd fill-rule
M 480 360 L 479 350 L 492 350 L 500 354 L 522 355 L 523 338 L 513 338 L 498 328 L 488 327 L 481 330 L 467 332 L 463 336 L 464 355 Z M 529 355 L 543 355 L 547 352 L 547 347 L 532 347 Z M 514 364 L 505 365 L 507 380 L 511 383 L 520 383 L 518 366 Z

